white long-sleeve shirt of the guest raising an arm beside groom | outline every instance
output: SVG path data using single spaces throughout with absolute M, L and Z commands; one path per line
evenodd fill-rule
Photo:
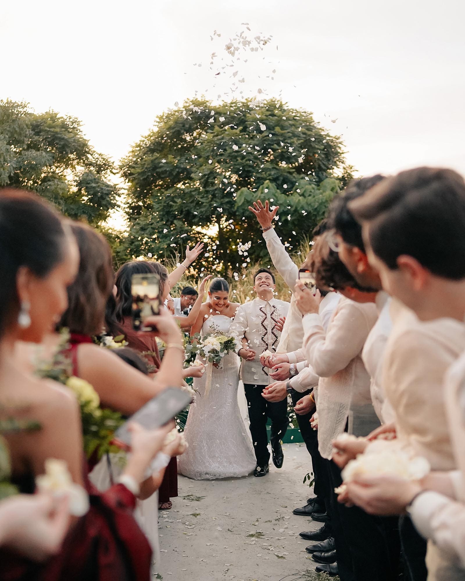
M 298 266 L 294 264 L 291 257 L 286 252 L 285 246 L 276 234 L 274 228 L 263 232 L 263 238 L 266 241 L 266 248 L 270 253 L 274 267 L 280 273 L 288 287 L 291 290 L 294 290 L 295 282 L 299 278 Z M 284 328 L 282 329 L 281 339 L 276 349 L 276 353 L 295 351 L 302 346 L 302 342 L 302 313 L 297 308 L 294 294 L 292 294 L 291 303 L 289 304 L 289 312 L 286 322 L 284 323 Z

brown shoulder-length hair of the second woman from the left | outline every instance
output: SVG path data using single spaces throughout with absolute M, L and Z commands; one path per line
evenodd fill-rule
M 105 238 L 87 224 L 73 222 L 71 231 L 79 247 L 79 271 L 68 288 L 69 304 L 59 327 L 80 335 L 98 335 L 113 288 L 112 250 Z

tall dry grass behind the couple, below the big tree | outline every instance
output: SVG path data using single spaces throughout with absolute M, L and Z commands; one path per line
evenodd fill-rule
M 291 258 L 297 266 L 305 260 L 305 257 L 310 252 L 312 245 L 308 240 L 304 240 L 299 249 L 291 253 Z M 176 260 L 175 259 L 167 259 L 163 261 L 164 266 L 168 268 L 169 271 L 174 270 L 176 268 Z M 271 263 L 271 259 L 268 261 L 262 261 L 262 263 L 251 264 L 247 268 L 242 268 L 241 272 L 238 273 L 238 279 L 235 279 L 232 272 L 228 272 L 226 275 L 227 281 L 231 285 L 230 290 L 230 300 L 234 303 L 246 303 L 249 300 L 255 298 L 255 293 L 253 292 L 253 274 L 259 268 L 268 268 L 276 274 L 276 298 L 289 301 L 291 300 L 291 290 L 285 284 L 284 280 L 280 277 L 280 275 L 276 272 L 276 269 L 273 267 L 273 263 Z M 213 274 L 214 272 L 206 272 L 205 274 Z M 202 282 L 202 278 L 193 275 L 192 272 L 189 274 L 189 271 L 181 278 L 181 281 L 178 282 L 176 286 L 171 290 L 172 296 L 180 296 L 181 290 L 184 286 L 194 286 L 198 288 Z M 208 288 L 208 284 L 207 284 Z

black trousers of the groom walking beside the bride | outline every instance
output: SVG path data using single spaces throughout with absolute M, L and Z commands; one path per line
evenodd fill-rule
M 249 420 L 253 449 L 257 465 L 265 466 L 270 461 L 266 422 L 271 419 L 271 446 L 282 440 L 287 431 L 287 397 L 282 401 L 271 402 L 262 396 L 263 385 L 244 383 L 245 397 L 249 407 Z

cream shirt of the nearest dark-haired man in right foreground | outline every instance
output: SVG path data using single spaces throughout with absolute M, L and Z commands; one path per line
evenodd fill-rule
M 397 437 L 427 458 L 433 470 L 455 468 L 443 383 L 464 349 L 463 323 L 451 318 L 422 322 L 404 310 L 384 352 L 382 385 L 394 409 Z

